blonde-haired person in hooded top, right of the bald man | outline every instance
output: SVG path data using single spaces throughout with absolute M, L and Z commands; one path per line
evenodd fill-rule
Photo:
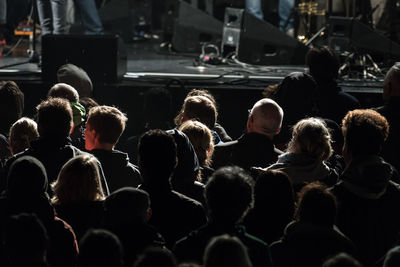
M 292 180 L 295 191 L 313 181 L 334 185 L 338 175 L 325 164 L 331 155 L 331 135 L 324 121 L 303 119 L 293 127 L 287 152 L 280 155 L 277 163 L 267 170 L 285 172 Z

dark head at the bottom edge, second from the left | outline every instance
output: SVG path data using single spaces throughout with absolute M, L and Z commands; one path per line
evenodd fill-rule
M 91 229 L 79 242 L 79 267 L 122 267 L 122 245 L 116 235 Z

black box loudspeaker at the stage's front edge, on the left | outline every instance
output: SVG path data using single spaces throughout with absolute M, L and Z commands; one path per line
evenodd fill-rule
M 57 81 L 66 63 L 84 69 L 96 82 L 113 83 L 126 73 L 127 54 L 117 35 L 45 35 L 42 37 L 42 79 Z

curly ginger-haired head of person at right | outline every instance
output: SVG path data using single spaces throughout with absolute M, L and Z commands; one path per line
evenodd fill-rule
M 356 109 L 343 118 L 342 132 L 351 155 L 378 155 L 389 135 L 389 123 L 374 110 Z

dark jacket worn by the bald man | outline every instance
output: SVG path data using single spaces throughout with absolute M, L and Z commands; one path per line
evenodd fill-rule
M 278 159 L 282 151 L 276 149 L 272 140 L 258 133 L 246 133 L 238 140 L 214 147 L 212 167 L 218 169 L 237 165 L 246 170 L 251 167 L 266 168 Z

